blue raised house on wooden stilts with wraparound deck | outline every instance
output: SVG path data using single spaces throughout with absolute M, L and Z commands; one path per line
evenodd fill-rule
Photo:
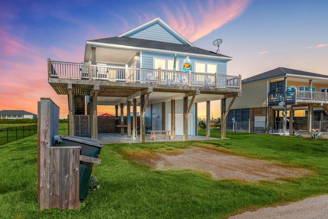
M 128 136 L 132 130 L 133 139 L 140 132 L 144 142 L 151 129 L 187 141 L 197 135 L 197 103 L 207 102 L 210 117 L 210 101 L 221 99 L 226 109 L 226 98 L 241 95 L 241 75 L 227 75 L 231 59 L 195 47 L 157 17 L 118 36 L 87 41 L 82 63 L 48 58 L 48 82 L 57 94 L 68 95 L 70 135 L 78 133 L 78 117 L 84 116 L 97 139 L 97 106 L 105 105 L 120 108 L 115 125 Z

